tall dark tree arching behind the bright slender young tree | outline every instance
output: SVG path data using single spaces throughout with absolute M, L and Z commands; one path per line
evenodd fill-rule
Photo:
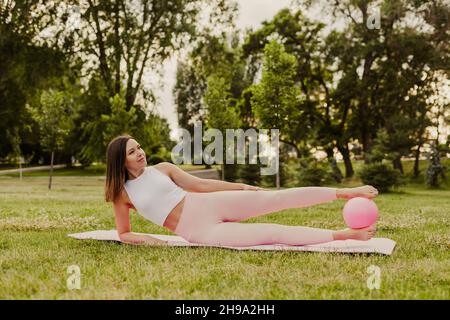
M 262 28 L 248 35 L 243 51 L 249 57 L 250 70 L 259 68 L 263 48 L 273 38 L 282 42 L 286 52 L 295 56 L 297 67 L 294 78 L 302 93 L 301 99 L 297 101 L 299 116 L 297 119 L 291 117 L 291 131 L 282 142 L 294 147 L 297 157 L 309 157 L 311 148 L 322 147 L 330 166 L 336 145 L 343 155 L 346 174 L 351 176 L 353 169 L 348 149 L 350 136 L 343 133 L 347 112 L 337 117 L 333 110 L 333 77 L 336 70 L 332 67 L 333 57 L 328 54 L 329 45 L 323 35 L 325 25 L 310 21 L 303 11 L 303 8 L 281 10 L 271 21 L 264 22 Z M 346 110 L 350 107 L 347 100 L 343 105 Z M 300 164 L 304 166 L 304 161 L 300 161 Z

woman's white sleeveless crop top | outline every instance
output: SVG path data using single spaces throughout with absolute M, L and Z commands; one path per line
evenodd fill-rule
M 146 167 L 137 178 L 127 180 L 125 190 L 138 213 L 160 226 L 187 194 L 171 178 L 153 166 Z

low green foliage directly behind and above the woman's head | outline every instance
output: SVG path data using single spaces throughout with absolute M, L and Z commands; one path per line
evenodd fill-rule
M 139 141 L 149 157 L 148 161 L 153 154 L 158 154 L 158 159 L 170 160 L 168 150 L 172 149 L 174 142 L 170 140 L 166 119 L 144 112 L 139 105 L 128 108 L 123 94 L 108 98 L 100 82 L 92 81 L 91 84 L 92 88 L 98 86 L 99 90 L 97 94 L 89 91 L 84 96 L 76 118 L 79 126 L 71 137 L 81 163 L 89 165 L 94 161 L 104 161 L 109 141 L 125 133 Z M 160 148 L 163 149 L 160 151 Z

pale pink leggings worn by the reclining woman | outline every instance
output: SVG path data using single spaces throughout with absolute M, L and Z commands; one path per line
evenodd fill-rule
M 237 221 L 336 199 L 336 188 L 327 187 L 188 192 L 175 233 L 189 242 L 219 246 L 329 242 L 332 230 Z

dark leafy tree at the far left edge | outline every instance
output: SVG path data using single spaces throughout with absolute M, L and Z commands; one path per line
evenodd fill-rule
M 60 79 L 69 74 L 67 57 L 59 48 L 35 42 L 55 16 L 53 5 L 43 0 L 0 4 L 0 135 L 7 137 L 7 131 L 17 127 L 22 154 L 31 162 L 37 162 L 41 150 L 37 127 L 25 106 L 37 104 L 41 90 L 61 87 Z M 2 139 L 0 158 L 14 152 L 15 144 Z

